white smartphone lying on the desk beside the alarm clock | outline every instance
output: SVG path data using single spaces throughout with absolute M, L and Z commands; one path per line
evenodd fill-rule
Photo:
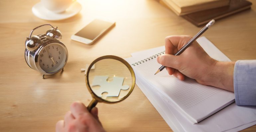
M 76 34 L 72 35 L 71 39 L 91 45 L 113 26 L 115 26 L 115 22 L 95 19 Z

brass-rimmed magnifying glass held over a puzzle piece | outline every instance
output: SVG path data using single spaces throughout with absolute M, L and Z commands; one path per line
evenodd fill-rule
M 106 55 L 90 64 L 85 82 L 93 98 L 87 107 L 91 111 L 98 102 L 113 104 L 126 99 L 135 86 L 135 74 L 124 59 Z

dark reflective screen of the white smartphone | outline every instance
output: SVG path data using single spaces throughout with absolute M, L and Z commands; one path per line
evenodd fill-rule
M 98 35 L 111 27 L 114 23 L 99 19 L 93 20 L 75 35 L 89 40 L 94 40 Z

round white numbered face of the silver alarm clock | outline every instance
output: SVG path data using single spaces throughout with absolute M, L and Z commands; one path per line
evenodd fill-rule
M 62 45 L 48 44 L 39 53 L 38 63 L 46 73 L 55 73 L 62 69 L 66 61 L 66 52 Z

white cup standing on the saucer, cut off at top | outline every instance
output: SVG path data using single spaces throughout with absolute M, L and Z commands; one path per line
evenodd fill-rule
M 64 12 L 75 0 L 41 0 L 43 6 L 51 12 Z

